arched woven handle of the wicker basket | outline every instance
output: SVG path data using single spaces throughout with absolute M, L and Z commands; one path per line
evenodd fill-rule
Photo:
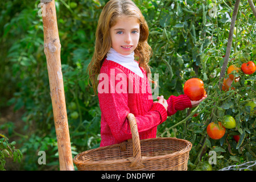
M 127 118 L 129 119 L 131 136 L 133 137 L 133 157 L 128 158 L 131 162 L 130 167 L 141 169 L 145 166 L 142 164 L 144 158 L 141 157 L 141 142 L 139 140 L 136 118 L 131 113 L 127 114 Z

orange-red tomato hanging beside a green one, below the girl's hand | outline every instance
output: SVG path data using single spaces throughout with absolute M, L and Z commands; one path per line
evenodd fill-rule
M 218 124 L 211 122 L 207 126 L 207 134 L 212 139 L 221 139 L 225 135 L 225 127 L 221 125 L 221 122 L 218 122 Z

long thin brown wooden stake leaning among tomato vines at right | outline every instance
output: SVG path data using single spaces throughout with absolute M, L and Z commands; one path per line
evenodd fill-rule
M 224 59 L 223 65 L 221 67 L 220 80 L 225 75 L 226 67 L 227 67 L 228 61 L 229 61 L 229 56 L 230 56 L 230 51 L 231 51 L 231 46 L 232 46 L 232 40 L 233 40 L 233 34 L 234 34 L 234 26 L 236 24 L 239 3 L 240 3 L 240 0 L 236 0 L 236 3 L 234 5 L 234 11 L 233 11 L 233 15 L 232 15 L 231 24 L 230 24 L 230 30 L 229 30 L 228 44 L 226 46 L 225 59 Z M 218 86 L 219 86 L 219 88 L 221 90 L 222 89 L 221 81 L 220 81 Z

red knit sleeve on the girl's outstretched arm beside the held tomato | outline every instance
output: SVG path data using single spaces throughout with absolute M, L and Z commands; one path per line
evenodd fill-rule
M 178 110 L 184 110 L 188 107 L 192 107 L 191 100 L 185 94 L 180 96 L 170 96 L 167 100 L 168 108 L 167 115 L 174 115 Z

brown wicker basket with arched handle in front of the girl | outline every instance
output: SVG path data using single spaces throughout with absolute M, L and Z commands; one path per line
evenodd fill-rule
M 132 141 L 81 152 L 73 158 L 78 170 L 187 170 L 191 142 L 171 137 L 139 140 L 134 115 L 128 114 L 127 118 Z

